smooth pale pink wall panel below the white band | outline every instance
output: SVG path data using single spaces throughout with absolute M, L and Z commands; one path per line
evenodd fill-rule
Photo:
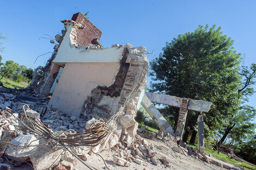
M 119 63 L 67 63 L 49 104 L 78 117 L 84 100 L 97 85 L 113 84 L 119 66 Z

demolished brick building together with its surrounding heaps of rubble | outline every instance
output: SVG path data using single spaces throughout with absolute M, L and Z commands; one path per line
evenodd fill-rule
M 26 93 L 34 93 L 34 96 L 40 99 L 50 96 L 50 100 L 36 103 L 32 101 L 35 100 L 33 97 L 24 99 L 22 96 L 17 97 L 19 95 L 8 93 L 0 95 L 0 100 L 4 102 L 3 107 L 0 106 L 0 131 L 4 131 L 3 135 L 0 135 L 1 141 L 12 144 L 23 142 L 22 144 L 27 145 L 36 140 L 33 144 L 39 144 L 39 147 L 8 148 L 2 143 L 0 155 L 6 155 L 8 159 L 15 161 L 30 160 L 34 169 L 46 169 L 57 165 L 58 159 L 61 158 L 62 162 L 58 166 L 72 169 L 69 162 L 72 164 L 72 161 L 79 159 L 74 158 L 75 155 L 83 155 L 83 160 L 87 159 L 83 150 L 83 146 L 86 146 L 86 149 L 90 149 L 90 154 L 108 148 L 116 150 L 118 155 L 113 156 L 113 161 L 121 166 L 129 166 L 132 161 L 138 164 L 142 164 L 143 161 L 152 162 L 154 165 L 161 162 L 168 164 L 164 157 L 156 159 L 153 145 L 136 134 L 138 123 L 134 118 L 143 97 L 145 98 L 144 87 L 149 69 L 145 55 L 147 49 L 142 46 L 132 47 L 129 43 L 125 46 L 113 45 L 103 48 L 99 41 L 101 31 L 81 12 L 74 14 L 71 20 L 62 22 L 65 30 L 62 30 L 62 35 L 56 35 L 58 43 L 54 46 L 51 58 L 45 67 L 38 67 L 38 70 L 43 71 L 42 77 L 39 77 L 38 72 L 34 72 L 33 81 L 26 89 Z M 188 105 L 184 107 L 187 108 Z M 179 130 L 181 135 L 186 116 L 184 119 Z M 23 121 L 23 124 L 19 120 Z M 164 118 L 160 121 L 164 127 L 162 130 L 168 132 L 169 129 L 172 134 L 172 127 L 166 123 L 167 121 Z M 11 123 L 15 127 L 25 129 L 23 131 L 29 129 L 33 133 L 23 134 L 21 129 L 21 133 L 16 133 Z M 101 134 L 92 131 L 95 127 L 100 127 Z M 84 130 L 85 128 L 87 130 Z M 59 131 L 63 136 L 58 134 Z M 88 135 L 89 140 L 81 139 L 87 133 L 92 135 Z M 162 133 L 159 133 L 161 139 L 175 143 L 175 152 L 179 150 L 185 155 L 200 156 L 202 160 L 211 159 L 207 155 L 200 155 L 196 148 L 186 146 L 180 137 Z M 89 144 L 83 145 L 85 141 L 89 141 Z M 44 142 L 50 143 L 51 146 L 40 146 Z M 63 153 L 68 150 L 67 148 L 70 149 L 70 153 L 76 154 L 66 158 Z M 65 163 L 68 165 L 64 163 L 66 160 L 68 162 Z

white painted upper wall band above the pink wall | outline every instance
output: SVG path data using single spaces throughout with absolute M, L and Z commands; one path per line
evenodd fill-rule
M 70 43 L 70 33 L 72 24 L 68 26 L 62 43 L 58 49 L 56 58 L 53 60 L 56 64 L 65 64 L 67 62 L 119 62 L 122 58 L 124 47 L 86 49 L 87 46 L 75 47 Z

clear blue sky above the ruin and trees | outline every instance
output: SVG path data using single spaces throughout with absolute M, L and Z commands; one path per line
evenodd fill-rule
M 41 37 L 54 37 L 64 29 L 61 20 L 71 20 L 73 14 L 87 11 L 89 20 L 102 31 L 100 42 L 104 47 L 129 42 L 149 52 L 154 50 L 156 58 L 165 43 L 178 34 L 193 32 L 199 24 L 216 24 L 234 40 L 235 50 L 244 58 L 243 65 L 256 63 L 256 1 L 13 0 L 0 4 L 0 33 L 7 37 L 0 40 L 1 47 L 5 47 L 0 53 L 3 61 L 14 60 L 33 69 L 44 66 L 51 56 L 48 52 L 53 52 L 54 45 Z M 151 61 L 154 55 L 148 58 Z M 255 101 L 256 94 L 249 97 L 248 104 L 256 108 Z

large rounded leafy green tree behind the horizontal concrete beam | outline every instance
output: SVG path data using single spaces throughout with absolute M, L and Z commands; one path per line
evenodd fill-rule
M 180 34 L 167 42 L 163 53 L 151 62 L 150 75 L 154 80 L 151 91 L 212 102 L 204 118 L 206 135 L 217 133 L 223 119 L 239 107 L 240 60 L 233 40 L 222 34 L 221 27 L 199 26 L 194 32 Z M 178 117 L 178 109 L 169 109 L 170 114 Z M 189 111 L 186 119 L 185 134 L 193 131 L 192 143 L 198 115 Z

